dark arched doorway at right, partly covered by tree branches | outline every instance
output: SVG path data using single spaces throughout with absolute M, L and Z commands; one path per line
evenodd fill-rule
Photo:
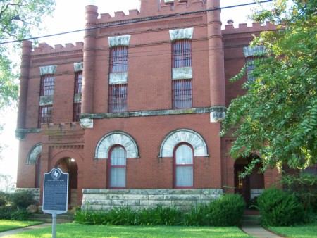
M 259 173 L 261 164 L 257 163 L 254 170 L 246 177 L 240 177 L 245 172 L 247 165 L 251 162 L 252 157 L 237 158 L 235 161 L 235 194 L 241 194 L 244 201 L 249 203 L 251 199 L 259 196 L 264 188 L 263 173 Z

